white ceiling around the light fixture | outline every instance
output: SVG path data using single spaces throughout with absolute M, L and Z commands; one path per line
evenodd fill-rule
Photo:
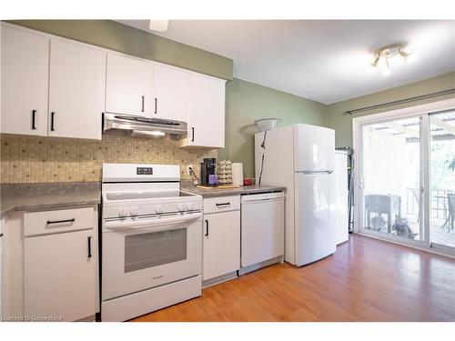
M 148 30 L 148 20 L 118 20 Z M 153 32 L 234 60 L 234 76 L 324 104 L 455 71 L 455 21 L 170 20 Z M 384 76 L 373 52 L 402 43 L 413 63 Z

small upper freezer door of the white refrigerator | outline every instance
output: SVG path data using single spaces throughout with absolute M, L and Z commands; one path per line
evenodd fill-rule
M 335 131 L 317 125 L 294 125 L 294 129 L 294 170 L 333 170 Z

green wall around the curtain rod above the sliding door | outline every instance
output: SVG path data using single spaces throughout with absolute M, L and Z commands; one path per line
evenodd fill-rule
M 455 88 L 455 73 L 439 75 L 437 77 L 425 79 L 417 83 L 394 87 L 389 90 L 380 91 L 371 95 L 363 95 L 347 101 L 335 103 L 327 106 L 327 126 L 335 129 L 335 138 L 337 146 L 352 146 L 352 118 L 349 115 L 343 115 L 347 110 L 352 110 L 369 105 L 379 105 L 399 99 L 410 98 L 418 95 L 427 95 L 442 90 Z M 434 98 L 428 98 L 405 105 L 393 105 L 387 108 L 365 111 L 353 116 L 371 115 L 385 112 L 402 107 L 421 105 L 430 102 L 436 102 L 453 97 L 454 95 L 443 95 Z

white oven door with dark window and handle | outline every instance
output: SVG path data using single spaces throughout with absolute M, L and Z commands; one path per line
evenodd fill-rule
M 103 221 L 103 301 L 201 274 L 201 213 Z

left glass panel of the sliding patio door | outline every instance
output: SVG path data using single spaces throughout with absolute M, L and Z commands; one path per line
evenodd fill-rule
M 424 239 L 420 134 L 420 116 L 362 126 L 365 232 Z

